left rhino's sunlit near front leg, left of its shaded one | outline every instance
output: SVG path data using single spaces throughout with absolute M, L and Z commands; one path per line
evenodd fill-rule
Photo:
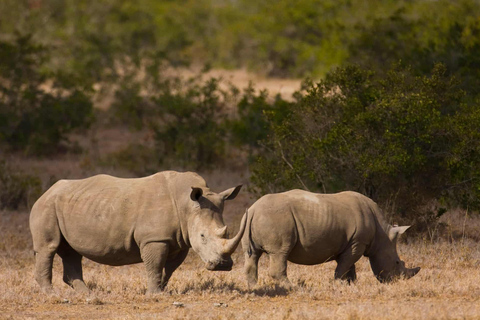
M 147 270 L 147 293 L 161 292 L 163 268 L 168 257 L 168 244 L 149 242 L 141 248 L 141 255 Z

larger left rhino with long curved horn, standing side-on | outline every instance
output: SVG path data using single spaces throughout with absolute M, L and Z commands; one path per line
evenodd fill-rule
M 243 235 L 226 239 L 222 212 L 241 186 L 212 192 L 199 175 L 165 171 L 139 179 L 98 175 L 60 180 L 38 199 L 30 214 L 35 278 L 51 291 L 52 262 L 63 262 L 63 280 L 88 292 L 82 257 L 121 266 L 142 262 L 147 292 L 161 291 L 193 248 L 208 270 L 231 270 L 230 255 Z

